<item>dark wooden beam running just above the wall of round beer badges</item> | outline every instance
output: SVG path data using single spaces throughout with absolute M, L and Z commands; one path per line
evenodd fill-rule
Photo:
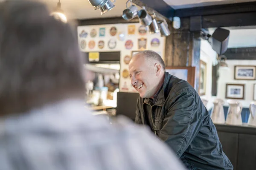
M 136 17 L 130 21 L 127 21 L 127 20 L 124 20 L 122 17 L 111 17 L 111 18 L 93 18 L 88 20 L 78 20 L 79 26 L 118 24 L 118 23 L 139 23 L 139 19 Z

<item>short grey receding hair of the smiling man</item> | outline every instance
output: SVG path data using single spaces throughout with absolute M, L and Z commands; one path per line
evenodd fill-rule
M 162 57 L 155 51 L 144 50 L 144 51 L 140 51 L 140 52 L 134 54 L 134 56 L 146 57 L 147 60 L 150 60 L 152 62 L 158 62 L 161 65 L 161 67 L 163 68 L 163 70 L 165 71 L 164 61 L 163 61 Z

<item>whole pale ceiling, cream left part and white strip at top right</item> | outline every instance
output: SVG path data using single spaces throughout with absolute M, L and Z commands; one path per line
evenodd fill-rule
M 58 0 L 40 0 L 46 3 L 50 9 L 57 6 Z M 113 1 L 113 0 L 112 0 Z M 218 4 L 242 3 L 255 0 L 164 0 L 172 8 L 192 8 L 196 6 L 211 6 Z M 61 0 L 61 8 L 68 19 L 90 19 L 102 17 L 121 17 L 122 11 L 126 8 L 127 0 L 116 0 L 115 7 L 101 15 L 99 10 L 93 10 L 88 0 Z

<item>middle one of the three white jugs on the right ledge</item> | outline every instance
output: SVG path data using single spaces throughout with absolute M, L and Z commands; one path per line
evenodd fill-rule
M 227 120 L 226 124 L 228 125 L 242 125 L 242 105 L 237 100 L 227 100 L 228 104 L 230 105 L 227 111 Z

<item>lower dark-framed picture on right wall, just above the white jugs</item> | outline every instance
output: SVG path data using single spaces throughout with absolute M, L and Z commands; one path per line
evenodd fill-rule
M 226 99 L 244 99 L 244 86 L 241 84 L 226 84 Z

